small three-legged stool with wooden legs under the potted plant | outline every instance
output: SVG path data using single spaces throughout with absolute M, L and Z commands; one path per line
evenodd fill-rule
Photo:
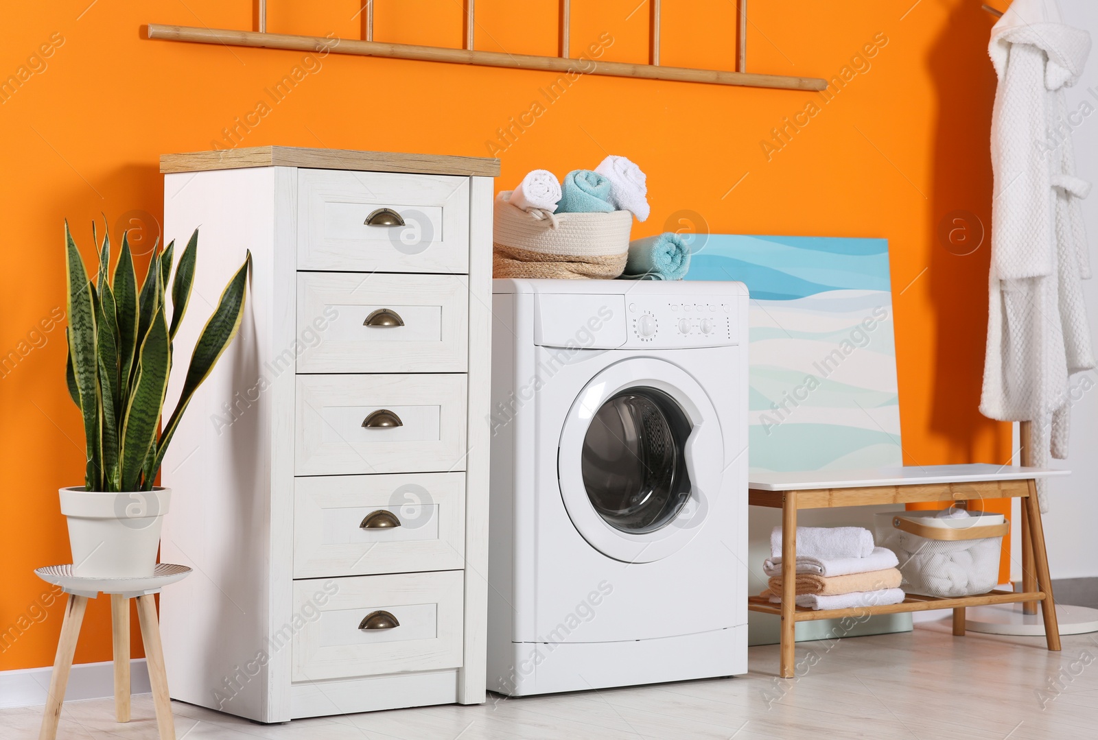
M 65 620 L 57 641 L 57 657 L 49 677 L 49 693 L 42 716 L 38 740 L 54 740 L 61 716 L 61 703 L 68 685 L 72 655 L 76 653 L 80 624 L 88 607 L 88 599 L 99 594 L 111 597 L 111 637 L 114 643 L 114 713 L 120 722 L 130 721 L 130 599 L 137 599 L 137 619 L 141 623 L 142 641 L 145 643 L 145 659 L 148 663 L 148 679 L 153 686 L 153 703 L 156 706 L 156 724 L 160 740 L 176 740 L 176 726 L 171 717 L 171 699 L 168 696 L 168 675 L 164 666 L 164 650 L 160 647 L 160 627 L 156 618 L 154 594 L 160 588 L 186 578 L 191 569 L 186 565 L 158 563 L 155 573 L 144 579 L 82 579 L 71 574 L 71 565 L 49 565 L 34 571 L 47 583 L 61 586 L 68 594 L 65 605 Z

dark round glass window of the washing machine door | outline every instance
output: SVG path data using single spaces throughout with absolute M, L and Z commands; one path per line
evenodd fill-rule
M 691 424 L 654 388 L 630 388 L 606 401 L 583 439 L 583 486 L 598 516 L 629 534 L 674 520 L 690 498 L 685 445 Z

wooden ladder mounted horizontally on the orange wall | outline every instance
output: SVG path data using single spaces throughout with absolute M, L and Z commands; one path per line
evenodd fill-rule
M 738 44 L 736 71 L 665 67 L 660 64 L 660 0 L 648 0 L 648 2 L 651 8 L 650 64 L 604 61 L 584 57 L 583 69 L 576 67 L 576 57 L 571 56 L 571 0 L 560 0 L 560 51 L 559 56 L 554 57 L 508 54 L 506 52 L 485 52 L 474 48 L 475 0 L 464 0 L 464 48 L 390 44 L 374 41 L 373 0 L 362 2 L 361 10 L 359 11 L 362 18 L 362 38 L 267 33 L 266 0 L 258 0 L 256 31 L 149 23 L 147 26 L 144 26 L 143 33 L 146 38 L 181 41 L 197 44 L 280 48 L 295 52 L 325 51 L 332 54 L 354 54 L 421 61 L 447 61 L 451 64 L 507 67 L 512 69 L 537 69 L 557 72 L 578 70 L 583 74 L 607 75 L 610 77 L 705 82 L 709 85 L 773 88 L 778 90 L 824 90 L 827 88 L 827 80 L 820 78 L 758 75 L 747 71 L 747 0 L 739 0 L 737 4 Z

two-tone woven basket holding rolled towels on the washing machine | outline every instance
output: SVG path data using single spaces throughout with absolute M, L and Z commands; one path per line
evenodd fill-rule
M 621 274 L 632 213 L 526 211 L 495 200 L 492 274 L 495 278 L 595 278 Z

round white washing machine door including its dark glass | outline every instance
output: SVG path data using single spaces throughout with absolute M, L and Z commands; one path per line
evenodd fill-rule
M 580 392 L 557 468 L 572 524 L 600 552 L 660 560 L 698 535 L 726 467 L 716 410 L 682 368 L 631 358 Z

